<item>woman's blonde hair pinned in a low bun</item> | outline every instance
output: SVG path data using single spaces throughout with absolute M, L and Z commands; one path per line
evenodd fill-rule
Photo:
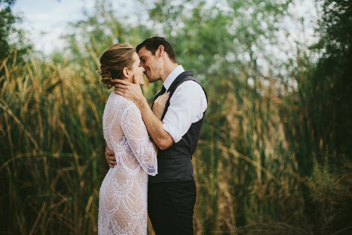
M 133 55 L 136 49 L 128 44 L 115 44 L 106 49 L 100 57 L 100 75 L 101 82 L 106 85 L 107 89 L 114 86 L 114 79 L 121 79 L 124 68 L 132 68 L 134 63 Z

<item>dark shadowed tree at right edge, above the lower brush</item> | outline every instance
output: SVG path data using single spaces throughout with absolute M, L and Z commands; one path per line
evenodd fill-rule
M 318 47 L 325 52 L 307 88 L 315 145 L 352 160 L 352 1 L 325 1 Z

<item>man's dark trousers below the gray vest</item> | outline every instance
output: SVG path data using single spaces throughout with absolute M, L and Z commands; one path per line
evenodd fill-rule
M 148 215 L 155 234 L 193 234 L 196 194 L 194 180 L 149 184 Z

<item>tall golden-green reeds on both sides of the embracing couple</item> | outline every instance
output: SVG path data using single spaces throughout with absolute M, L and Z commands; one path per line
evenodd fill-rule
M 101 117 L 109 92 L 91 68 L 95 59 L 82 66 L 29 55 L 22 67 L 2 68 L 8 72 L 1 78 L 1 198 L 3 211 L 10 211 L 2 227 L 19 234 L 95 234 L 107 171 Z M 248 87 L 248 72 L 204 84 L 209 108 L 194 156 L 197 234 L 236 234 L 253 222 L 295 223 L 303 203 L 275 104 L 282 100 L 270 89 L 262 88 L 261 96 Z M 255 87 L 261 88 L 260 77 Z

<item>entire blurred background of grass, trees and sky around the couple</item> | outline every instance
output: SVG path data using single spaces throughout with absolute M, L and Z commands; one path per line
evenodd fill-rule
M 155 35 L 208 93 L 195 234 L 352 234 L 351 0 L 29 2 L 0 0 L 0 234 L 97 234 L 99 58 Z

